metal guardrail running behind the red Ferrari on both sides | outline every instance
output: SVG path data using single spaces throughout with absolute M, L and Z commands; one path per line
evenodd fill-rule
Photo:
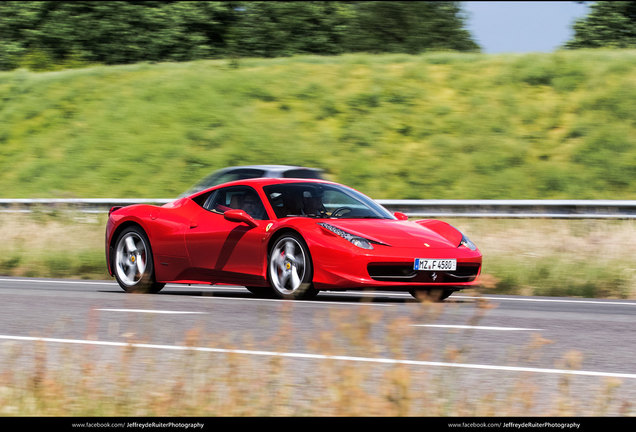
M 113 206 L 162 205 L 153 198 L 0 198 L 0 212 L 80 211 L 106 213 Z M 410 217 L 636 219 L 636 201 L 626 200 L 376 200 L 387 210 Z

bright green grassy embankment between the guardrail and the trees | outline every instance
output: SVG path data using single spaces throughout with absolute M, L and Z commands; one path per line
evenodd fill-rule
M 236 164 L 376 198 L 636 197 L 636 51 L 0 73 L 0 196 L 176 196 Z

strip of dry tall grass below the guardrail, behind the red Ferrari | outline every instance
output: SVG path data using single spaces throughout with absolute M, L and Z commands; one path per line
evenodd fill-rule
M 484 255 L 484 292 L 636 298 L 636 221 L 455 219 Z M 104 215 L 0 214 L 0 275 L 108 279 Z

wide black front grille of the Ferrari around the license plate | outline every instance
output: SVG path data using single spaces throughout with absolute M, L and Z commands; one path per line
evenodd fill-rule
M 371 263 L 367 266 L 369 276 L 381 282 L 417 282 L 417 283 L 461 283 L 472 282 L 479 274 L 479 264 L 457 264 L 457 270 L 415 271 L 413 263 Z

